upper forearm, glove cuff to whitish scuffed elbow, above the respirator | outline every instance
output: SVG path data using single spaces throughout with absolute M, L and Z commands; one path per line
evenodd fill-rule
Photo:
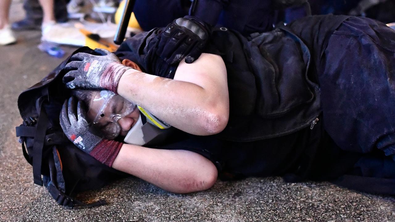
M 208 93 L 194 83 L 129 70 L 120 78 L 118 93 L 190 134 L 218 133 L 218 124 L 227 118 L 216 112 L 219 110 L 216 107 L 218 95 Z

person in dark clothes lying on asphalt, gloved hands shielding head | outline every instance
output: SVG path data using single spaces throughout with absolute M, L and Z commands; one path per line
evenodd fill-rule
M 115 54 L 71 56 L 63 81 L 80 102 L 68 100 L 60 119 L 80 149 L 172 192 L 207 189 L 218 173 L 394 194 L 395 32 L 385 24 L 312 16 L 248 38 L 213 28 L 206 53 L 176 65 L 156 56 L 162 30 L 126 40 Z M 126 100 L 94 105 L 107 91 L 81 88 Z M 157 144 L 121 143 L 147 124 L 137 116 L 176 129 Z M 144 137 L 137 128 L 140 136 L 132 137 Z

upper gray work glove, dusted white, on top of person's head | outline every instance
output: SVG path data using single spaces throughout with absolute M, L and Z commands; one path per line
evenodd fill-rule
M 65 69 L 70 70 L 63 77 L 68 88 L 107 89 L 117 93 L 118 83 L 126 70 L 118 57 L 105 49 L 94 50 L 99 55 L 76 53 L 71 56 Z

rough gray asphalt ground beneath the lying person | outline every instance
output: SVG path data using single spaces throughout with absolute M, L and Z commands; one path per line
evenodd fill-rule
M 23 18 L 20 3 L 11 9 L 12 21 Z M 62 60 L 39 51 L 40 32 L 18 32 L 17 37 L 16 45 L 0 46 L 0 221 L 395 221 L 395 198 L 326 182 L 284 183 L 280 178 L 218 181 L 205 192 L 176 195 L 130 177 L 79 195 L 84 201 L 106 199 L 108 205 L 58 206 L 45 188 L 33 184 L 15 126 L 21 124 L 19 93 Z

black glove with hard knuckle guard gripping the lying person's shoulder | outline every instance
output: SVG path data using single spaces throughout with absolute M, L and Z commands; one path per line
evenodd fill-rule
M 167 64 L 176 64 L 182 58 L 186 63 L 192 63 L 203 52 L 209 36 L 208 24 L 187 15 L 174 20 L 161 33 L 156 54 Z

